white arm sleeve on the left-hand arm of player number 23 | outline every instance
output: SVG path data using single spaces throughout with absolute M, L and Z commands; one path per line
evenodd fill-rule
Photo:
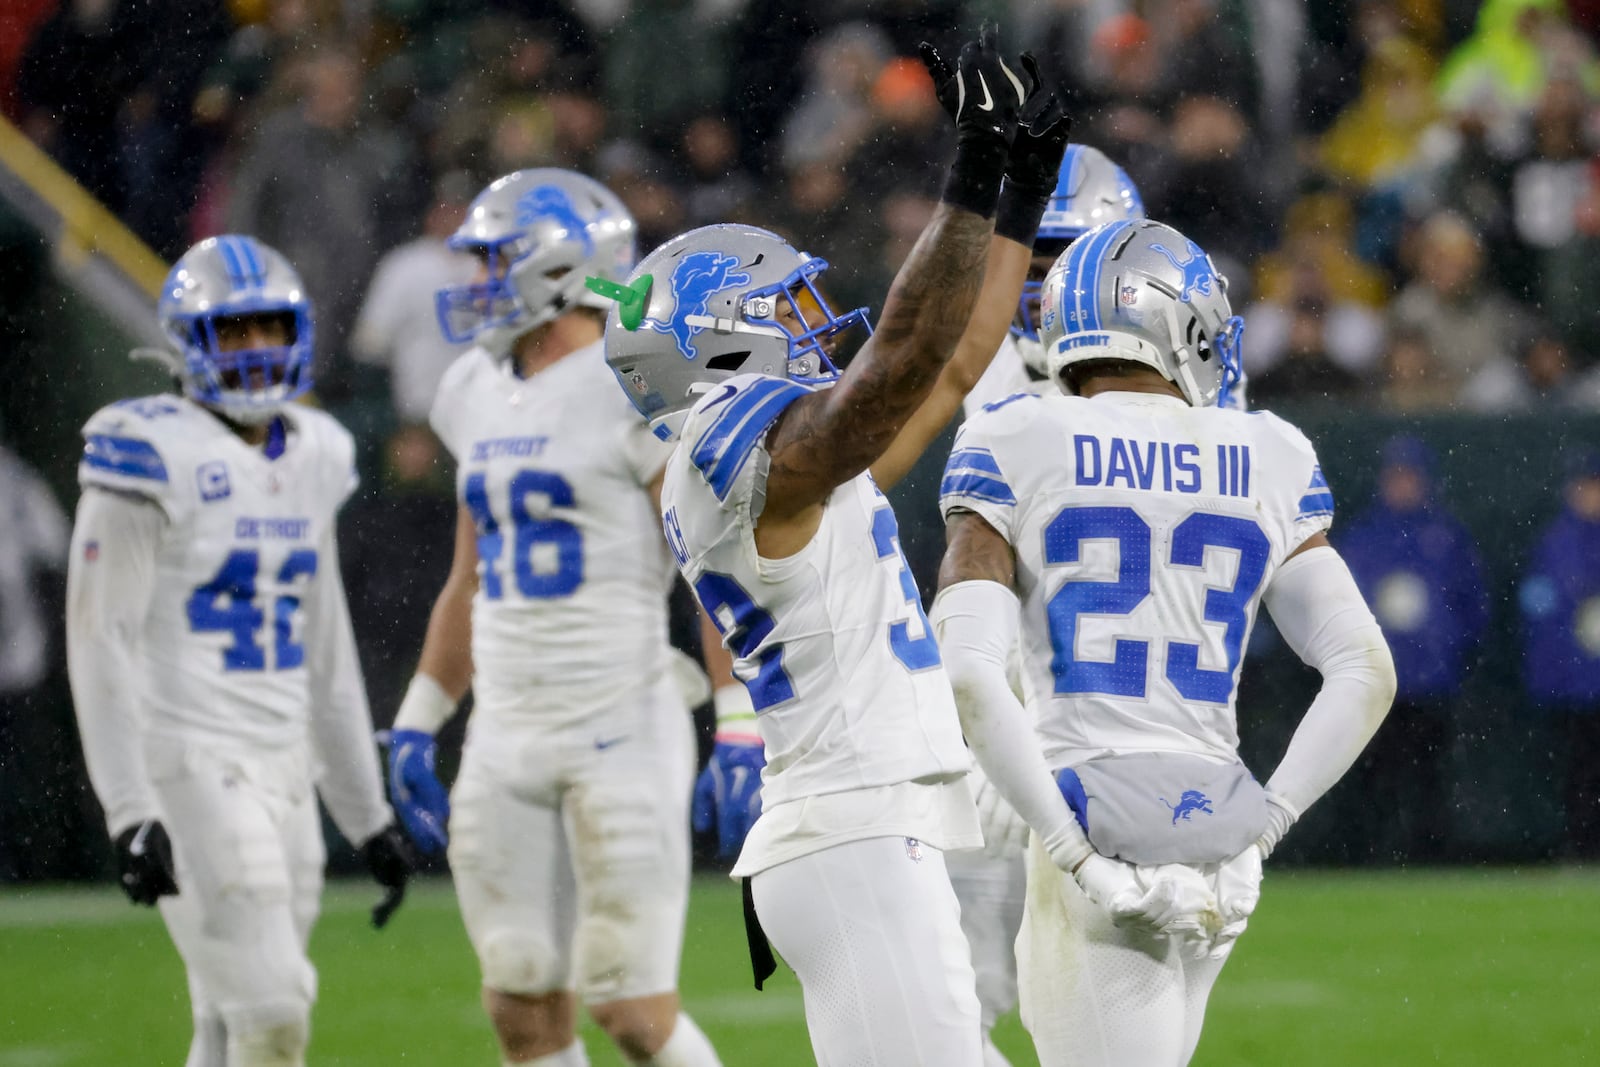
M 1067 808 L 1006 678 L 1019 608 L 1016 593 L 1000 582 L 957 582 L 933 601 L 933 630 L 978 765 L 1040 835 L 1056 865 L 1075 870 L 1094 848 Z

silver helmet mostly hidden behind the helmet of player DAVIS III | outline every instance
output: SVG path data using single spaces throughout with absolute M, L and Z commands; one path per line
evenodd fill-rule
M 1056 192 L 1045 205 L 1034 238 L 1034 253 L 1056 256 L 1067 243 L 1077 240 L 1101 222 L 1117 219 L 1142 219 L 1144 198 L 1128 178 L 1128 173 L 1112 163 L 1104 152 L 1086 144 L 1069 144 L 1061 157 L 1061 174 Z M 1018 301 L 1016 318 L 1011 320 L 1011 336 L 1027 370 L 1040 378 L 1045 368 L 1045 346 L 1038 341 L 1038 293 L 1042 282 L 1024 282 Z

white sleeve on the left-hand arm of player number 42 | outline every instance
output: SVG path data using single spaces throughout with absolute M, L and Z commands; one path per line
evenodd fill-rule
M 144 766 L 139 656 L 166 514 L 147 498 L 86 488 L 67 561 L 67 677 L 106 829 L 160 814 Z

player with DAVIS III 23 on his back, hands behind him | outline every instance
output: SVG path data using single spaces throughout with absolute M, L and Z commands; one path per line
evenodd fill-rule
M 1310 443 L 1226 410 L 1242 326 L 1182 234 L 1099 226 L 1042 293 L 1066 395 L 990 405 L 946 467 L 933 617 L 974 755 L 1034 830 L 1018 965 L 1048 1067 L 1189 1061 L 1261 861 L 1394 697 Z M 1262 603 L 1323 675 L 1266 789 L 1234 717 Z

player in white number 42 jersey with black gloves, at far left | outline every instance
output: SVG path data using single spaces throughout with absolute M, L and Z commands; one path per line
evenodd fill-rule
M 160 904 L 189 971 L 189 1067 L 304 1062 L 322 894 L 320 793 L 390 888 L 411 870 L 384 803 L 339 582 L 355 445 L 290 403 L 310 387 L 310 302 L 250 237 L 190 248 L 154 352 L 182 395 L 83 427 L 67 665 L 122 886 Z

